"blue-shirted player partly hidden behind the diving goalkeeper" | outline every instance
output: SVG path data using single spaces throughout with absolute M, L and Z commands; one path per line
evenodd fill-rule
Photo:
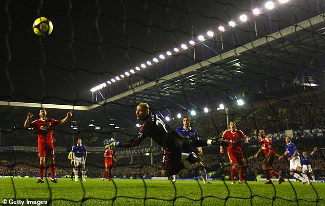
M 185 136 L 187 139 L 199 140 L 198 132 L 191 127 L 191 123 L 192 123 L 191 118 L 184 117 L 182 123 L 183 123 L 183 126 L 178 127 L 176 129 L 176 131 L 179 132 L 181 135 Z M 181 154 L 182 154 L 182 156 L 189 156 L 190 154 L 192 154 L 193 156 L 197 157 L 196 155 L 201 156 L 203 154 L 203 152 L 202 152 L 201 147 L 197 147 L 197 148 L 184 150 L 184 151 L 182 151 Z M 200 161 L 200 158 L 197 157 L 197 161 L 199 161 L 199 162 L 196 162 L 195 166 L 198 168 L 198 171 L 199 171 L 200 175 L 202 176 L 203 184 L 211 184 L 212 182 L 207 179 L 207 171 L 204 168 L 204 165 L 202 164 L 202 162 Z M 177 182 L 176 175 L 173 175 L 173 182 L 174 183 Z

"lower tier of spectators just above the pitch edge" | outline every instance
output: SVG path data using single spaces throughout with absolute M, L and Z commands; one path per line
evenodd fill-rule
M 250 158 L 256 152 L 256 149 L 244 147 L 247 160 L 246 176 L 247 179 L 255 179 L 257 175 L 262 174 L 261 162 L 262 156 Z M 283 151 L 282 151 L 283 152 Z M 203 162 L 208 173 L 213 172 L 212 177 L 227 175 L 230 173 L 230 165 L 227 155 L 218 153 L 218 148 L 204 148 Z M 0 162 L 0 175 L 3 176 L 37 176 L 38 165 L 36 152 L 1 152 L 2 161 Z M 281 153 L 280 153 L 281 154 Z M 72 166 L 68 161 L 68 153 L 56 153 L 56 174 L 65 176 L 71 173 Z M 150 156 L 145 154 L 131 156 L 117 156 L 118 162 L 114 164 L 114 175 L 118 177 L 158 177 L 160 175 L 160 162 L 162 154 L 153 156 L 154 165 L 150 165 Z M 325 176 L 325 163 L 322 152 L 316 152 L 312 157 L 312 167 L 316 177 Z M 289 172 L 289 163 L 287 161 L 275 161 L 274 169 L 282 173 L 283 176 Z M 102 153 L 89 153 L 87 158 L 86 170 L 88 177 L 99 178 L 104 172 L 104 157 Z M 47 169 L 49 172 L 49 169 Z M 196 177 L 197 171 L 194 167 L 184 169 L 178 174 L 180 177 Z

